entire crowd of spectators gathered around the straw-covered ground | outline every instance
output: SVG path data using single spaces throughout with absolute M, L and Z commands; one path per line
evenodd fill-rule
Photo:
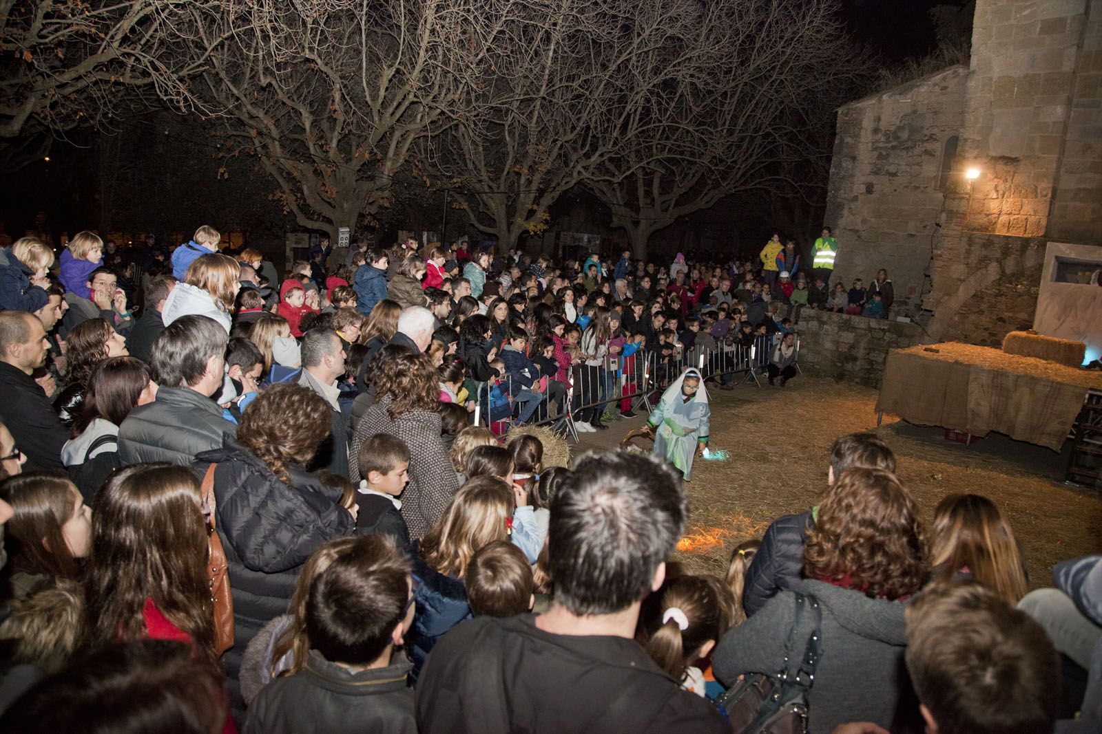
M 997 504 L 926 526 L 873 435 L 724 578 L 671 560 L 712 355 L 798 374 L 795 251 L 112 245 L 0 255 L 2 731 L 1048 732 L 1061 676 L 1102 721 L 1102 558 L 1026 594 Z M 497 425 L 640 406 L 659 458 Z

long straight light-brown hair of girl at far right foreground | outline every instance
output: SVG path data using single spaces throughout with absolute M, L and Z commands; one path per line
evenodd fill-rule
M 998 505 L 979 494 L 950 494 L 933 511 L 933 581 L 966 574 L 1011 604 L 1028 591 L 1014 530 Z

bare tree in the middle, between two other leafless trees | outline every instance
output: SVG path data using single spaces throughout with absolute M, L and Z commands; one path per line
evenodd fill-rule
M 591 179 L 615 147 L 634 59 L 678 32 L 650 3 L 531 0 L 498 28 L 494 55 L 432 143 L 435 171 L 461 189 L 474 226 L 500 247 L 542 231 L 559 196 Z M 668 4 L 659 2 L 658 6 Z M 668 59 L 676 64 L 676 58 Z M 652 77 L 639 79 L 646 89 Z

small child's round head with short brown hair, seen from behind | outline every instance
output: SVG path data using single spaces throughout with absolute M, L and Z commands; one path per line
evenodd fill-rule
M 516 616 L 536 603 L 532 567 L 517 546 L 505 540 L 475 554 L 463 585 L 475 616 Z

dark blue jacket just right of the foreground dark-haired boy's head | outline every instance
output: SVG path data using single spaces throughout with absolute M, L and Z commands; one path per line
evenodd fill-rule
M 444 576 L 432 568 L 421 559 L 420 551 L 420 540 L 410 544 L 413 576 L 421 580 L 421 588 L 413 596 L 417 605 L 413 628 L 407 637 L 410 657 L 413 659 L 413 680 L 417 680 L 436 642 L 449 629 L 472 616 L 463 580 Z

